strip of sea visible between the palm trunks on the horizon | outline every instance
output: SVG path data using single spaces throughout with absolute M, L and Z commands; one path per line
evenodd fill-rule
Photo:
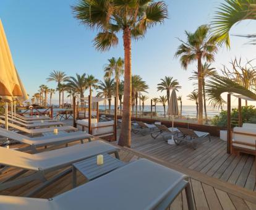
M 105 110 L 104 105 L 100 105 L 99 108 L 101 110 Z M 108 106 L 106 106 L 106 109 L 108 109 Z M 113 105 L 111 105 L 111 109 L 114 109 Z M 167 109 L 168 109 L 168 106 L 166 106 L 166 112 L 167 112 Z M 226 107 L 223 107 L 223 109 L 226 109 Z M 139 106 L 138 106 L 138 111 L 139 111 Z M 142 111 L 142 107 L 141 107 L 141 111 Z M 153 107 L 153 111 L 155 111 L 155 107 Z M 179 106 L 179 111 L 180 111 L 180 106 Z M 145 105 L 144 112 L 150 112 L 150 105 Z M 207 106 L 207 115 L 209 118 L 212 118 L 215 115 L 220 114 L 220 112 L 221 112 L 221 109 Z M 164 115 L 163 106 L 156 105 L 156 113 L 160 117 L 163 116 Z M 183 117 L 193 118 L 193 117 L 196 117 L 196 115 L 197 115 L 197 107 L 196 106 L 193 106 L 193 105 L 182 106 L 182 116 Z

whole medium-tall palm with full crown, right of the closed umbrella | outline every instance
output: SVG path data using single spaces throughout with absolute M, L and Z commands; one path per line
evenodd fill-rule
M 181 65 L 184 69 L 194 61 L 197 61 L 198 72 L 198 124 L 203 123 L 203 80 L 202 80 L 202 59 L 207 62 L 214 61 L 214 55 L 217 52 L 218 36 L 210 35 L 210 27 L 201 25 L 194 33 L 185 31 L 187 41 L 182 44 L 176 51 L 175 56 L 180 57 Z

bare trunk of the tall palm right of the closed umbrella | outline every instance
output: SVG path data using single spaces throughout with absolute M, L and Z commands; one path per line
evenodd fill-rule
M 197 55 L 198 67 L 198 124 L 203 124 L 203 94 L 202 94 L 202 54 Z

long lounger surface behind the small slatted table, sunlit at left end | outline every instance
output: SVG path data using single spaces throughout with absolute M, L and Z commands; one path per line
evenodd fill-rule
M 48 170 L 57 166 L 67 166 L 90 156 L 107 153 L 116 148 L 104 141 L 91 141 L 89 143 L 74 145 L 67 148 L 45 151 L 44 153 L 28 154 L 13 149 L 0 147 L 0 163 L 6 166 L 20 167 L 29 170 Z

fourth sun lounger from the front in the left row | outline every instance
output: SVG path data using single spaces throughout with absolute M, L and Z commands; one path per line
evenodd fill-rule
M 4 125 L 4 120 L 0 120 L 0 124 Z M 53 132 L 54 128 L 56 128 L 56 127 L 50 127 L 50 128 L 27 129 L 24 127 L 20 127 L 19 125 L 12 124 L 11 122 L 9 122 L 8 125 L 9 127 L 14 128 L 15 130 L 19 130 L 20 132 L 23 132 L 23 133 L 28 133 L 32 136 L 39 135 L 41 133 L 46 133 L 46 132 Z M 58 130 L 59 131 L 65 130 L 69 132 L 69 131 L 77 131 L 78 129 L 72 126 L 62 126 L 62 127 L 58 127 Z

